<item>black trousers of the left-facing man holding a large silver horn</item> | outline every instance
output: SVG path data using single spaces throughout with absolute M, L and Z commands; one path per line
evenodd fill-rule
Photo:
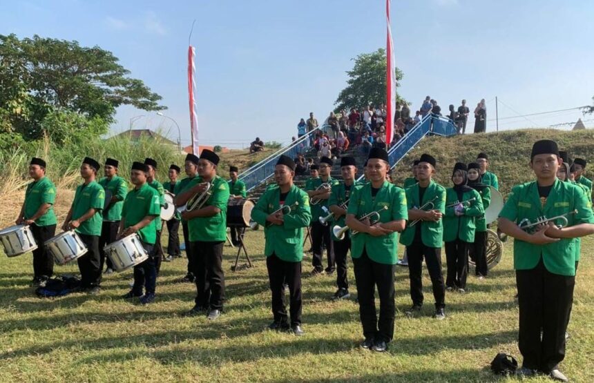
M 196 305 L 221 310 L 224 302 L 222 251 L 224 242 L 191 242 L 195 257 Z

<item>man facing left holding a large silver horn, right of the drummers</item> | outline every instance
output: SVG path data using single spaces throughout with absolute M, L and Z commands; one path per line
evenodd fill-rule
M 218 163 L 218 155 L 203 149 L 198 161 L 199 177 L 190 181 L 186 191 L 175 196 L 175 204 L 183 205 L 193 195 L 206 193 L 210 185 L 210 196 L 202 207 L 182 213 L 182 218 L 188 221 L 191 252 L 195 256 L 196 298 L 188 315 L 207 311 L 209 320 L 220 317 L 224 302 L 222 251 L 227 240 L 229 184 L 217 175 Z

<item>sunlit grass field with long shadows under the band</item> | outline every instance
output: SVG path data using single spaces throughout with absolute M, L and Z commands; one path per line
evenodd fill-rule
M 582 245 L 564 371 L 573 382 L 593 382 L 594 263 Z M 303 327 L 296 337 L 268 331 L 270 294 L 262 232 L 249 232 L 255 267 L 229 271 L 235 252 L 225 247 L 227 303 L 220 320 L 184 317 L 194 287 L 178 282 L 185 259 L 164 263 L 157 301 L 148 306 L 119 299 L 131 271 L 104 279 L 96 297 L 76 293 L 39 299 L 28 287 L 31 255 L 0 255 L 1 382 L 491 382 L 498 352 L 519 357 L 511 248 L 503 262 L 470 293 L 446 295 L 446 320 L 432 320 L 425 272 L 422 316 L 405 317 L 408 271 L 396 271 L 396 334 L 387 353 L 358 348 L 361 325 L 354 300 L 331 302 L 334 277 L 310 277 L 303 261 Z M 245 258 L 242 258 L 245 262 Z M 76 273 L 75 265 L 56 267 Z M 351 282 L 352 268 L 349 270 Z M 352 293 L 356 290 L 352 286 Z M 353 294 L 356 295 L 356 294 Z M 508 379 L 504 381 L 514 381 Z M 530 382 L 545 382 L 544 377 Z

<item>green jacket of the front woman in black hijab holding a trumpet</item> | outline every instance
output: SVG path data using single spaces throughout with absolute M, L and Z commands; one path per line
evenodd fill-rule
M 477 190 L 468 190 L 462 193 L 462 201 L 470 202 L 470 206 L 464 209 L 464 215 L 457 216 L 454 213 L 454 207 L 446 207 L 446 214 L 443 215 L 443 241 L 452 242 L 461 239 L 464 242 L 475 242 L 475 230 L 477 228 L 475 221 L 477 217 L 484 215 L 483 201 Z M 446 190 L 446 206 L 458 202 L 458 193 L 454 188 Z

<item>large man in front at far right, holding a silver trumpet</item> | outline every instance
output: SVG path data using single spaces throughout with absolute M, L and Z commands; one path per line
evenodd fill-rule
M 565 333 L 575 286 L 573 239 L 594 233 L 594 215 L 582 189 L 557 179 L 561 162 L 555 141 L 534 144 L 530 166 L 536 180 L 512 188 L 499 213 L 499 228 L 515 237 L 518 345 L 524 357 L 519 375 L 541 372 L 566 382 L 558 364 L 565 357 Z M 534 233 L 519 227 L 524 219 L 536 223 L 544 215 L 564 215 L 568 225 L 559 228 L 555 220 L 544 222 Z

